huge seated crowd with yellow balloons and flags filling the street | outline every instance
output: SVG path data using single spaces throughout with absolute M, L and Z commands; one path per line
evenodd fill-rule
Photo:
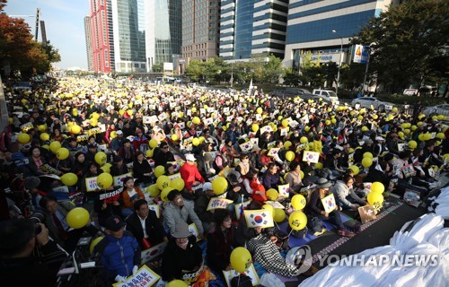
M 84 232 L 104 237 L 93 253 L 101 257 L 105 284 L 125 282 L 141 265 L 141 252 L 163 242 L 163 282 L 205 266 L 223 281 L 237 247 L 247 247 L 267 271 L 295 276 L 299 265 L 281 256 L 276 228 L 249 227 L 235 204 L 251 201 L 245 209 L 260 210 L 275 201 L 287 218 L 295 212 L 291 198 L 302 195 L 309 232 L 319 236 L 326 231 L 320 222 L 330 222 L 352 238 L 359 229 L 344 225 L 340 213 L 357 218 L 358 207 L 368 204 L 366 183 L 381 182 L 383 196 L 403 196 L 410 187 L 425 196 L 449 153 L 444 116 L 330 106 L 257 90 L 137 81 L 112 87 L 63 78 L 32 92 L 5 89 L 5 95 L 10 123 L 0 146 L 0 270 L 4 278 L 20 274 L 16 282 L 30 280 L 22 275 L 26 269 L 54 285 L 57 263 Z M 113 184 L 92 187 L 103 173 Z M 180 187 L 161 187 L 163 175 L 181 178 Z M 217 177 L 227 183 L 220 192 L 212 185 Z M 279 191 L 285 185 L 287 195 Z M 328 213 L 321 199 L 330 194 L 338 208 Z M 208 209 L 216 196 L 231 204 Z M 81 229 L 66 221 L 76 206 L 92 207 Z M 207 241 L 206 256 L 198 240 Z

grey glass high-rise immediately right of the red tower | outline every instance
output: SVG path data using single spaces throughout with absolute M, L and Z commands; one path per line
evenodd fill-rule
M 144 2 L 111 0 L 116 72 L 146 72 Z

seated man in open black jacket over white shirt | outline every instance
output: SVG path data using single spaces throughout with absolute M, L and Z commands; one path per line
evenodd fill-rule
M 127 218 L 127 230 L 137 239 L 142 250 L 151 248 L 163 241 L 168 242 L 167 234 L 154 211 L 148 208 L 145 199 L 134 204 L 134 213 Z

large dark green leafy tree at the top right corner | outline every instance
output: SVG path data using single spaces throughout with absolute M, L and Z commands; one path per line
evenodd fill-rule
M 448 56 L 448 14 L 448 0 L 403 1 L 369 21 L 352 43 L 371 47 L 370 73 L 387 91 L 447 81 L 447 66 L 442 74 L 434 64 Z

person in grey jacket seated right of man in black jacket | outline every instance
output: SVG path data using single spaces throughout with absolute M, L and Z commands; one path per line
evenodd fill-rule
M 204 234 L 203 224 L 193 209 L 193 202 L 184 200 L 180 192 L 176 189 L 168 194 L 167 199 L 170 202 L 163 210 L 163 222 L 168 228 L 169 233 L 172 234 L 175 231 L 177 222 L 194 222 L 198 228 L 198 237 L 202 238 Z

